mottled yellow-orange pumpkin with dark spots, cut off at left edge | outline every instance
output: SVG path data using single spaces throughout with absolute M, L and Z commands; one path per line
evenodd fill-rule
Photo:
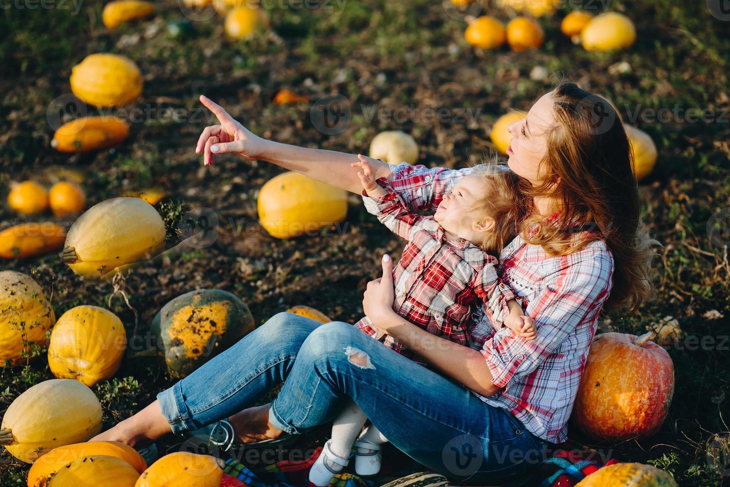
M 44 347 L 53 323 L 53 307 L 33 277 L 0 271 L 0 365 L 26 361 L 31 345 Z

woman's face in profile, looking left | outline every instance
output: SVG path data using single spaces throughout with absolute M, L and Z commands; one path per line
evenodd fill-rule
M 540 167 L 540 161 L 548 147 L 548 129 L 556 123 L 553 103 L 553 93 L 546 93 L 532 105 L 526 118 L 507 127 L 512 134 L 510 147 L 507 147 L 507 156 L 510 156 L 507 166 L 532 185 L 539 185 L 545 177 L 545 168 Z

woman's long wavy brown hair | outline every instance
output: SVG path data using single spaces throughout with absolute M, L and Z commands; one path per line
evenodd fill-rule
M 526 196 L 552 196 L 563 210 L 554 221 L 531 215 L 522 223 L 526 242 L 550 256 L 566 256 L 603 239 L 614 259 L 613 286 L 607 307 L 633 311 L 653 294 L 652 245 L 639 216 L 633 155 L 623 123 L 612 105 L 575 83 L 553 92 L 556 126 L 547 134 L 542 161 L 545 182 L 523 181 Z M 583 232 L 583 229 L 593 230 Z M 580 236 L 580 238 L 576 238 Z

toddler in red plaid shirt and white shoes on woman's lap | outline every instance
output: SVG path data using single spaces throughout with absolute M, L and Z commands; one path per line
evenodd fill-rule
M 518 336 L 534 340 L 534 321 L 524 315 L 510 288 L 499 283 L 494 269 L 497 259 L 493 255 L 498 255 L 512 237 L 518 221 L 518 177 L 511 171 L 466 176 L 444 197 L 433 216 L 420 216 L 407 210 L 385 179 L 374 179 L 372 168 L 377 161 L 358 158 L 360 161 L 352 165 L 361 169 L 358 177 L 366 209 L 408 241 L 393 269 L 393 310 L 431 334 L 468 346 L 466 322 L 470 307 L 481 299 L 495 326 L 507 326 Z M 379 333 L 371 324 L 365 317 L 356 326 L 388 348 L 426 366 L 400 342 Z M 362 430 L 366 420 L 354 402 L 347 404 L 334 420 L 331 440 L 312 465 L 310 482 L 327 486 L 349 464 L 358 434 L 356 472 L 374 475 L 380 471 L 380 448 L 387 440 L 372 423 Z

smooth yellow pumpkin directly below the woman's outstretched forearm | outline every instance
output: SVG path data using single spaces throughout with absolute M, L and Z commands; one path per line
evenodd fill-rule
M 298 172 L 269 180 L 258 194 L 258 218 L 279 239 L 319 231 L 345 219 L 347 193 Z

